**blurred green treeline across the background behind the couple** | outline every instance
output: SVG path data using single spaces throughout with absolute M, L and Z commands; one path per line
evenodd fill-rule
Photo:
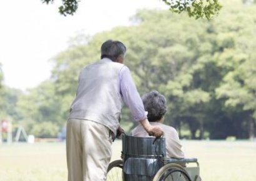
M 103 41 L 118 39 L 128 48 L 125 64 L 140 95 L 152 89 L 165 95 L 165 124 L 178 129 L 180 137 L 252 139 L 256 5 L 233 0 L 223 6 L 211 21 L 141 10 L 131 18 L 132 26 L 92 37 L 78 35 L 66 51 L 52 58 L 51 79 L 26 93 L 1 86 L 0 115 L 13 120 L 14 128 L 23 125 L 29 134 L 56 137 L 76 95 L 79 71 L 99 59 Z M 127 132 L 135 126 L 127 108 L 122 111 L 122 126 Z

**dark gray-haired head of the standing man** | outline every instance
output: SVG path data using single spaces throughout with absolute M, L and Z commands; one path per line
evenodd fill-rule
M 108 40 L 101 46 L 101 59 L 109 58 L 113 62 L 124 62 L 126 46 L 121 41 Z

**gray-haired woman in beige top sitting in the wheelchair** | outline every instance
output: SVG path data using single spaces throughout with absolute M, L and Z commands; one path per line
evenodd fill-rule
M 182 145 L 180 144 L 179 135 L 174 127 L 162 124 L 164 122 L 164 115 L 167 111 L 166 99 L 164 95 L 159 94 L 156 90 L 152 90 L 148 94 L 142 96 L 142 101 L 145 110 L 148 112 L 147 119 L 151 125 L 158 125 L 164 130 L 164 137 L 166 140 L 166 154 L 175 159 L 184 158 L 182 152 Z M 145 132 L 141 125 L 137 125 L 132 130 L 132 135 L 137 137 L 148 137 L 149 134 Z

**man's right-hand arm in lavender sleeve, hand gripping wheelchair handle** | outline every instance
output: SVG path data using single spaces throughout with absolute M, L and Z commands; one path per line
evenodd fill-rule
M 134 120 L 139 121 L 149 135 L 160 137 L 163 134 L 163 131 L 159 126 L 152 126 L 149 124 L 149 120 L 147 120 L 147 112 L 144 109 L 143 102 L 136 89 L 134 81 L 132 80 L 130 71 L 126 66 L 122 67 L 120 72 L 120 87 L 124 103 L 129 107 Z

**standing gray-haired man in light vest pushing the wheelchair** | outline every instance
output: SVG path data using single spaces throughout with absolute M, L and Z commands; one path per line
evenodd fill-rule
M 126 46 L 106 41 L 101 60 L 82 69 L 76 99 L 67 120 L 66 150 L 69 181 L 106 180 L 111 160 L 112 135 L 120 130 L 122 100 L 145 132 L 159 137 L 158 126 L 147 120 L 142 100 L 129 69 L 124 66 Z

